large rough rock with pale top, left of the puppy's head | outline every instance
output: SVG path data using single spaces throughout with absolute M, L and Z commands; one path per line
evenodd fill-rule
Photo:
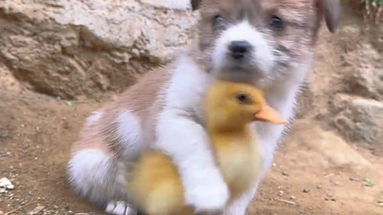
M 39 93 L 98 98 L 174 59 L 195 24 L 189 8 L 188 0 L 3 0 L 0 59 Z

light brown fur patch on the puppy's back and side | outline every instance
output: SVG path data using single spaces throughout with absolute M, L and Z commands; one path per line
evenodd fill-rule
M 84 125 L 79 141 L 74 144 L 74 151 L 82 148 L 98 148 L 115 158 L 120 158 L 123 151 L 121 137 L 117 133 L 117 118 L 123 111 L 135 114 L 146 133 L 154 129 L 156 114 L 160 112 L 159 93 L 170 79 L 173 65 L 157 68 L 146 73 L 135 85 L 131 86 L 118 99 L 107 103 L 100 109 L 103 115 L 98 121 Z

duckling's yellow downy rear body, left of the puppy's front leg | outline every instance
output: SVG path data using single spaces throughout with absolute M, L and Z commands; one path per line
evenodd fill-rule
M 128 176 L 129 200 L 149 215 L 193 214 L 184 206 L 178 172 L 167 155 L 145 151 Z

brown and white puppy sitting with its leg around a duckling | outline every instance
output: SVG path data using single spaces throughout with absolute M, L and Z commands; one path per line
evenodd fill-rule
M 334 32 L 338 0 L 191 0 L 200 9 L 195 40 L 173 64 L 148 72 L 116 101 L 88 117 L 68 164 L 72 189 L 109 213 L 136 213 L 123 202 L 118 163 L 156 148 L 178 168 L 188 205 L 197 212 L 224 207 L 228 189 L 207 143 L 201 96 L 214 79 L 242 81 L 264 91 L 285 120 L 311 66 L 321 21 Z M 262 176 L 225 208 L 243 215 L 268 169 L 285 127 L 255 123 Z

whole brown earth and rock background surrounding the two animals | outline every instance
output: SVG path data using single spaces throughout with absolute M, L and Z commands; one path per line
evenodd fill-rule
M 190 41 L 188 0 L 153 2 L 0 0 L 0 215 L 104 214 L 65 164 L 90 111 Z M 382 10 L 342 5 L 248 215 L 383 215 Z

